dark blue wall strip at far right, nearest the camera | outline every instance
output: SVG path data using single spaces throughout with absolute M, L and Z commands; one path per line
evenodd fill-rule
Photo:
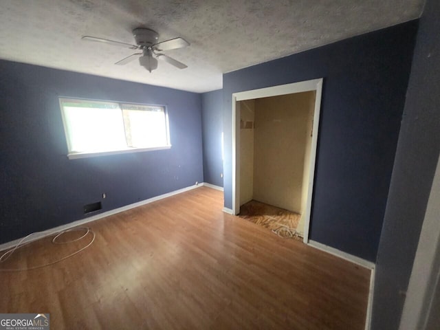
M 399 327 L 440 151 L 440 1 L 419 23 L 375 273 L 372 329 Z M 430 267 L 430 265 L 426 265 Z

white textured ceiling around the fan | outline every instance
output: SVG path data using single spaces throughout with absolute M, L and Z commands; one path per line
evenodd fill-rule
M 423 0 L 0 0 L 0 58 L 131 80 L 211 91 L 222 74 L 419 17 Z M 166 54 L 151 74 L 133 50 L 81 41 L 92 35 L 134 43 L 139 26 L 159 41 L 181 36 L 190 47 Z

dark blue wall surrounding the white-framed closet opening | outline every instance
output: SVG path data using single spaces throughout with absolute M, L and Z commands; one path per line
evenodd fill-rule
M 225 207 L 232 93 L 323 77 L 310 239 L 375 261 L 416 31 L 411 21 L 224 74 Z

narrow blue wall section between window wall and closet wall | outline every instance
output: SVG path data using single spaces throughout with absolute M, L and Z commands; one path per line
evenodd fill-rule
M 223 131 L 223 93 L 221 89 L 201 94 L 203 133 L 203 180 L 223 187 L 221 132 Z

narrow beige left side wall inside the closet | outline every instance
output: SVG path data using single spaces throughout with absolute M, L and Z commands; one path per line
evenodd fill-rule
M 254 111 L 255 100 L 240 103 L 240 205 L 254 193 Z

